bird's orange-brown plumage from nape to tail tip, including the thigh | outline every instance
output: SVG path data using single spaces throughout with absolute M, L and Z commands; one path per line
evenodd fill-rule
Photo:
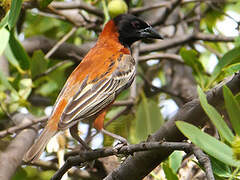
M 130 54 L 118 40 L 118 32 L 113 21 L 109 21 L 103 32 L 100 34 L 96 45 L 88 52 L 82 62 L 72 72 L 68 78 L 62 92 L 55 104 L 53 113 L 48 120 L 48 124 L 39 136 L 34 145 L 26 153 L 24 160 L 36 160 L 41 155 L 50 138 L 58 131 L 58 124 L 64 109 L 71 101 L 72 97 L 79 91 L 79 87 L 88 76 L 87 84 L 97 83 L 109 75 L 117 68 L 118 58 L 123 54 Z M 102 129 L 106 112 L 96 120 L 96 127 Z

